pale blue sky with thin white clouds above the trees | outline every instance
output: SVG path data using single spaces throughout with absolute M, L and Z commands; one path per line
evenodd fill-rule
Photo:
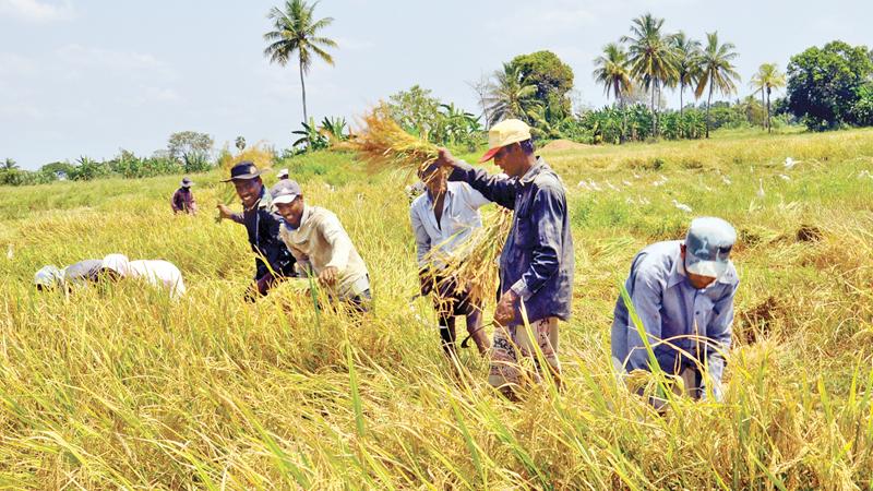
M 295 67 L 263 57 L 267 0 L 0 0 L 0 158 L 24 168 L 119 148 L 151 154 L 183 130 L 216 146 L 290 145 L 302 120 Z M 591 60 L 650 11 L 669 32 L 718 31 L 737 45 L 740 95 L 762 62 L 785 69 L 812 45 L 873 45 L 873 2 L 698 0 L 322 0 L 336 67 L 307 79 L 311 116 L 354 119 L 380 98 L 420 84 L 476 109 L 468 82 L 518 53 L 550 49 L 576 76 L 576 98 L 607 103 Z M 678 97 L 669 96 L 675 105 Z

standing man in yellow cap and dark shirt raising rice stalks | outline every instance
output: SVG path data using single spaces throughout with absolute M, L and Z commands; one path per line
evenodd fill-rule
M 514 397 L 519 356 L 533 358 L 537 379 L 545 369 L 539 367 L 535 347 L 560 384 L 558 321 L 570 319 L 573 237 L 564 185 L 546 160 L 534 154 L 530 128 L 517 119 L 505 120 L 491 128 L 488 143 L 490 149 L 479 161 L 493 158 L 505 176 L 489 176 L 455 159 L 445 148 L 440 149 L 436 161 L 452 169 L 450 181 L 467 182 L 488 200 L 515 212 L 500 255 L 497 326 L 488 378 L 492 386 Z

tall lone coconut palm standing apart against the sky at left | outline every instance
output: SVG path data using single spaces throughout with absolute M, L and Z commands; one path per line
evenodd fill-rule
M 264 49 L 264 56 L 271 63 L 285 67 L 294 55 L 297 55 L 300 88 L 303 93 L 303 121 L 309 121 L 303 75 L 309 73 L 315 58 L 333 65 L 334 59 L 326 49 L 336 47 L 336 41 L 319 34 L 331 25 L 334 19 L 324 17 L 316 21 L 314 10 L 318 4 L 318 1 L 310 4 L 306 0 L 286 0 L 284 9 L 272 8 L 267 19 L 273 22 L 274 31 L 264 34 L 264 40 L 270 43 Z

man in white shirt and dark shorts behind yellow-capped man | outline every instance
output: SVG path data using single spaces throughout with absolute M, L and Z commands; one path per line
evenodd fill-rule
M 441 272 L 446 265 L 464 260 L 455 256 L 455 252 L 482 226 L 479 208 L 491 202 L 466 182 L 449 182 L 440 166 L 421 169 L 419 177 L 427 191 L 412 202 L 409 217 L 416 236 L 421 295 L 434 294 L 440 338 L 446 355 L 455 354 L 456 315 L 466 318 L 467 333 L 479 354 L 485 355 L 488 337 L 482 330 L 481 300 L 470 298 L 468 285 L 446 278 Z

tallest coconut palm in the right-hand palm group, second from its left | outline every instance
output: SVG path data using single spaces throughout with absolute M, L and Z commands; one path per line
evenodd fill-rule
M 677 79 L 673 50 L 670 49 L 669 38 L 661 35 L 663 19 L 657 19 L 650 13 L 633 20 L 631 36 L 622 36 L 621 41 L 627 43 L 627 53 L 631 62 L 631 74 L 643 82 L 643 86 L 651 91 L 651 132 L 657 135 L 658 110 L 655 106 L 656 96 L 660 98 L 660 87 L 671 80 Z

